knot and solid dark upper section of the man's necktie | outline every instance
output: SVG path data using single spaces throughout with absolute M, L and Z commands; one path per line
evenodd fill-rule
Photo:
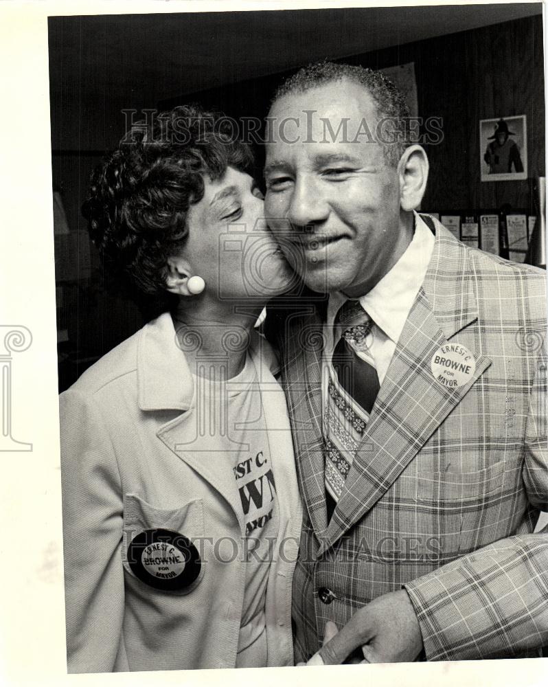
M 332 358 L 339 384 L 369 414 L 379 390 L 374 359 L 368 352 L 366 343 L 367 335 L 373 326 L 372 319 L 359 301 L 347 300 L 339 309 L 334 324 L 342 328 L 342 335 L 334 348 Z M 350 345 L 350 341 L 353 346 Z M 361 350 L 370 362 L 358 356 L 354 347 Z

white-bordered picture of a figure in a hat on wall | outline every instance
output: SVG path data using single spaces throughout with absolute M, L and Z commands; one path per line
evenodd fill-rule
M 479 122 L 481 181 L 527 179 L 527 117 Z

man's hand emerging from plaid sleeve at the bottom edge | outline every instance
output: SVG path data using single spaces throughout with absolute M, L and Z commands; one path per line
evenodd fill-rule
M 405 589 L 379 596 L 356 611 L 307 665 L 341 664 L 359 646 L 364 663 L 414 661 L 420 654 L 422 635 Z

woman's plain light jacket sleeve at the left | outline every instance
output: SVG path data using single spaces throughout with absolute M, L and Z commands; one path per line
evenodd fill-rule
M 69 673 L 111 672 L 125 660 L 122 490 L 93 401 L 60 396 L 65 618 Z

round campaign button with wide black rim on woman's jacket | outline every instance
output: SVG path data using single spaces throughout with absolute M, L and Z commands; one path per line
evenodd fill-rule
M 142 582 L 165 592 L 180 592 L 198 578 L 198 550 L 184 534 L 172 530 L 143 530 L 128 546 L 128 563 Z

